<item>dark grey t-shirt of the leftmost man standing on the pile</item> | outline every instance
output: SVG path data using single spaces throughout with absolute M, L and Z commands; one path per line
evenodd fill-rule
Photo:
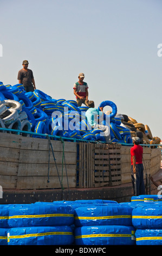
M 33 71 L 27 69 L 27 71 L 21 69 L 18 71 L 17 79 L 22 81 L 23 86 L 32 86 Z

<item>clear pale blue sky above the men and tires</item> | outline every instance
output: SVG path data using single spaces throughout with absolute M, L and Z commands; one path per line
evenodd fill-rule
M 95 107 L 112 101 L 162 138 L 161 0 L 0 0 L 0 9 L 3 84 L 18 83 L 27 59 L 36 89 L 75 100 L 83 72 Z

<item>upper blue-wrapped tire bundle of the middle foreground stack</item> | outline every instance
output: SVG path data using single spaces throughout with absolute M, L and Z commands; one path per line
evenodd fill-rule
M 132 225 L 132 210 L 129 206 L 118 204 L 79 207 L 74 210 L 76 227 L 85 225 Z

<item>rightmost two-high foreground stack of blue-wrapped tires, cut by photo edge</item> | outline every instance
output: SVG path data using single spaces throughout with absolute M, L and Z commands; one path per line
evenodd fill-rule
M 137 245 L 162 245 L 162 205 L 140 206 L 132 211 Z

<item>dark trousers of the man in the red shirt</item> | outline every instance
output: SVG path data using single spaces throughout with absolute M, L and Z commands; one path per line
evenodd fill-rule
M 135 194 L 135 184 L 137 188 L 137 194 L 135 196 L 139 196 L 140 194 L 145 194 L 145 185 L 144 185 L 144 166 L 142 163 L 136 164 L 136 181 L 134 180 L 133 174 L 133 165 L 131 166 L 131 175 L 132 175 L 132 185 Z

